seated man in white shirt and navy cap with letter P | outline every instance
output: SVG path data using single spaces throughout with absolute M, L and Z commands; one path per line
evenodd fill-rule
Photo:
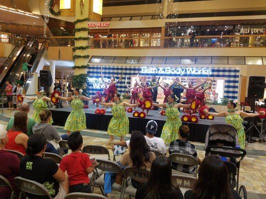
M 163 154 L 166 154 L 166 147 L 164 140 L 160 137 L 155 137 L 154 135 L 157 132 L 157 123 L 154 120 L 148 121 L 146 125 L 146 135 L 144 136 L 147 144 L 150 147 L 151 151 L 159 151 Z M 129 147 L 129 140 L 115 142 L 114 145 L 127 146 Z

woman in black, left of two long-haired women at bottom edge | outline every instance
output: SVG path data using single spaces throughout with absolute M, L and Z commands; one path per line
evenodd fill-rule
M 172 184 L 169 158 L 158 156 L 152 162 L 149 180 L 139 185 L 135 199 L 184 199 L 180 189 Z

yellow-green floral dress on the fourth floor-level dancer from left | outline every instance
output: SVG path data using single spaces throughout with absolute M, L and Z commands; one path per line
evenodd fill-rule
M 178 117 L 180 112 L 174 105 L 175 103 L 167 104 L 165 111 L 167 119 L 162 130 L 161 138 L 166 144 L 178 138 L 178 129 L 182 125 L 181 119 Z

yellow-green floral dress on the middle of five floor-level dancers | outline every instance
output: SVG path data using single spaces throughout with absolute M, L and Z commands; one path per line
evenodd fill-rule
M 129 132 L 129 120 L 123 105 L 112 107 L 113 117 L 109 122 L 107 133 L 109 135 L 125 136 Z

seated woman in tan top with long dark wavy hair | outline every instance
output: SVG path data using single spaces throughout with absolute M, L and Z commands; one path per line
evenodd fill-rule
M 153 160 L 156 158 L 155 154 L 151 152 L 146 139 L 142 132 L 132 131 L 129 152 L 125 152 L 120 160 L 120 163 L 125 166 L 140 169 L 150 169 Z M 132 186 L 137 189 L 141 182 L 131 179 Z

